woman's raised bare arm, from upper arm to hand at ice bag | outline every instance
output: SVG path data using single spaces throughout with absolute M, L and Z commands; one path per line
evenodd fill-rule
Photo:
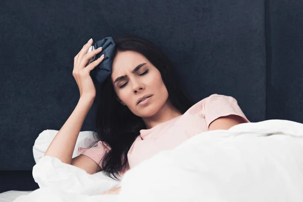
M 72 156 L 82 124 L 96 95 L 96 89 L 89 73 L 105 57 L 103 54 L 102 57 L 86 66 L 89 59 L 102 51 L 102 47 L 100 47 L 89 52 L 88 48 L 91 45 L 92 39 L 81 48 L 81 51 L 74 58 L 73 76 L 79 87 L 79 102 L 44 154 L 44 156 L 56 157 L 63 163 L 82 168 L 90 174 L 95 173 L 97 169 L 98 171 L 101 170 L 98 164 L 84 155 L 80 155 L 74 159 L 72 159 Z

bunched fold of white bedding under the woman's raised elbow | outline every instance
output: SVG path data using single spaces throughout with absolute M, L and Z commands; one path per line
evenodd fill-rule
M 39 187 L 51 187 L 69 193 L 94 195 L 116 188 L 121 181 L 103 172 L 88 174 L 86 171 L 62 163 L 55 157 L 44 156 L 33 167 L 33 178 Z

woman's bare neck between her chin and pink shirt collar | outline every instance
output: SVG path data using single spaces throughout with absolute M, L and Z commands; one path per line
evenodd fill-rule
M 169 121 L 175 117 L 182 115 L 169 100 L 162 106 L 162 108 L 151 117 L 143 117 L 143 121 L 147 129 L 153 128 L 156 125 Z

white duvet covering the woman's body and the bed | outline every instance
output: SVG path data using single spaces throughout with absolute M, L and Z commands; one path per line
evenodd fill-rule
M 200 133 L 162 151 L 121 182 L 43 157 L 33 168 L 40 189 L 26 201 L 303 201 L 303 124 L 244 123 Z M 118 195 L 100 195 L 121 185 Z

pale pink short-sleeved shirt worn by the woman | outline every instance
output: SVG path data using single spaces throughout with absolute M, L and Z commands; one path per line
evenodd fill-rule
M 190 137 L 208 131 L 214 120 L 228 115 L 238 115 L 245 122 L 249 122 L 235 98 L 212 94 L 193 105 L 183 115 L 153 128 L 140 130 L 140 135 L 128 151 L 126 171 L 162 150 L 173 149 Z M 85 155 L 99 163 L 108 148 L 99 141 L 95 147 L 79 147 L 78 151 L 79 155 Z

